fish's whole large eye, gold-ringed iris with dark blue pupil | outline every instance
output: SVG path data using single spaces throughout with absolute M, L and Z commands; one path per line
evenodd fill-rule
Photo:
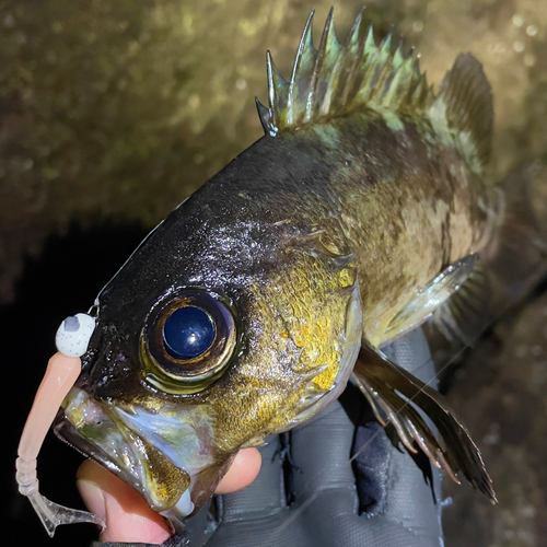
M 195 393 L 223 373 L 236 346 L 233 310 L 211 292 L 188 291 L 161 303 L 141 340 L 147 380 L 170 393 Z

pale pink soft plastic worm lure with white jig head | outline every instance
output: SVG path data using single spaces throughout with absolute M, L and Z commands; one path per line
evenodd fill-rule
M 62 322 L 56 337 L 59 352 L 49 359 L 19 443 L 15 462 L 19 491 L 30 499 L 50 537 L 59 524 L 91 522 L 103 528 L 106 526 L 102 519 L 92 513 L 65 508 L 44 498 L 38 491 L 36 475 L 39 450 L 62 399 L 80 375 L 80 357 L 88 350 L 94 327 L 95 321 L 86 314 L 78 314 Z

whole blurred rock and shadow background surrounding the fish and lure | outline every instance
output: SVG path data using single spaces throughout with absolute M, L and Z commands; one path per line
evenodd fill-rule
M 86 545 L 93 526 L 54 540 L 16 493 L 16 444 L 60 322 L 86 311 L 141 237 L 261 135 L 264 56 L 289 74 L 309 11 L 316 39 L 330 1 L 0 1 L 0 340 L 3 538 Z M 376 0 L 377 38 L 395 27 L 439 84 L 459 51 L 492 83 L 491 179 L 547 150 L 547 3 Z M 360 1 L 335 3 L 345 36 Z M 547 202 L 547 184 L 536 188 Z M 545 199 L 545 201 L 542 201 Z M 546 211 L 546 209 L 543 209 Z M 544 220 L 547 214 L 544 214 Z M 545 289 L 545 287 L 544 287 Z M 538 290 L 445 371 L 481 447 L 496 508 L 446 480 L 446 546 L 547 545 L 547 296 Z M 48 437 L 40 491 L 79 505 L 82 458 Z M 2 539 L 3 540 L 3 539 Z

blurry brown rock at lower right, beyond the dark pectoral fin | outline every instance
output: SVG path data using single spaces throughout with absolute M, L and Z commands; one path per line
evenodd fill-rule
M 546 546 L 546 293 L 469 353 L 449 397 L 482 451 L 499 504 L 445 480 L 454 500 L 444 510 L 446 546 Z

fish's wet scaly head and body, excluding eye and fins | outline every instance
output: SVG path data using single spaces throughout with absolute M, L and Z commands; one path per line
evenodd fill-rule
M 267 133 L 183 202 L 100 294 L 60 437 L 83 434 L 171 515 L 174 467 L 199 507 L 241 447 L 334 400 L 361 338 L 398 336 L 407 303 L 494 240 L 499 193 L 435 116 L 361 105 Z M 177 391 L 147 336 L 155 310 L 196 290 L 233 314 L 235 349 L 214 382 Z

